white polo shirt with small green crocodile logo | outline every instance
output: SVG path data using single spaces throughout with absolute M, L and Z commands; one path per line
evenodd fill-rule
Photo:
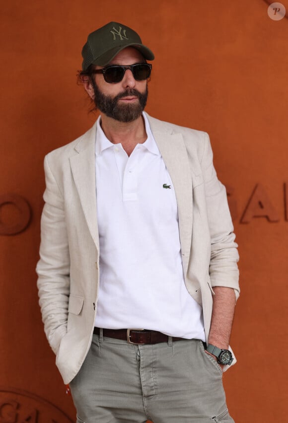
M 145 114 L 147 139 L 130 157 L 97 121 L 100 283 L 95 326 L 143 328 L 205 341 L 202 307 L 182 268 L 173 184 Z

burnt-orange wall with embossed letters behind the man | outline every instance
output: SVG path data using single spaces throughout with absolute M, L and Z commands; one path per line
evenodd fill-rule
M 87 34 L 116 20 L 136 29 L 155 53 L 146 110 L 160 119 L 209 132 L 219 179 L 232 193 L 242 295 L 231 339 L 238 364 L 224 375 L 230 413 L 236 422 L 285 422 L 288 19 L 271 20 L 264 0 L 140 3 L 1 4 L 0 196 L 24 197 L 32 217 L 25 231 L 0 235 L 0 411 L 3 398 L 8 398 L 6 403 L 11 400 L 8 391 L 17 391 L 21 398 L 14 413 L 24 420 L 32 413 L 29 407 L 36 407 L 31 395 L 29 403 L 27 396 L 19 394 L 24 390 L 74 420 L 72 401 L 65 395 L 38 307 L 34 269 L 43 157 L 94 122 L 75 73 Z M 282 3 L 288 10 L 288 1 Z M 262 191 L 252 195 L 256 184 Z M 241 223 L 247 205 L 248 222 Z M 278 221 L 255 217 L 263 213 Z M 4 205 L 0 219 L 7 226 L 19 216 L 13 206 Z M 37 398 L 33 401 L 37 403 Z M 45 412 L 40 403 L 38 411 L 44 416 L 49 407 L 44 407 Z

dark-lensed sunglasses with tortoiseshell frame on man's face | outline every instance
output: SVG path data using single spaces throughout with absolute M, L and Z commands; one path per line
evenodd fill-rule
M 93 73 L 103 73 L 104 79 L 109 84 L 116 84 L 122 81 L 124 74 L 127 69 L 130 69 L 133 73 L 134 79 L 137 81 L 144 81 L 151 74 L 152 65 L 148 63 L 137 63 L 136 65 L 120 66 L 113 65 L 107 66 L 103 69 L 92 70 Z

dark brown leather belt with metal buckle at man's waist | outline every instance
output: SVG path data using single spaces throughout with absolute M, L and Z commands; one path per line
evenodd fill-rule
M 94 328 L 94 334 L 100 335 L 100 328 Z M 127 341 L 128 344 L 144 345 L 168 342 L 168 335 L 145 329 L 103 329 L 103 336 Z M 172 338 L 173 341 L 183 341 L 184 338 Z

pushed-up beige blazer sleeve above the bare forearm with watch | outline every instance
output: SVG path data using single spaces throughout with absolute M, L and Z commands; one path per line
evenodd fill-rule
M 205 182 L 208 222 L 211 235 L 210 279 L 213 286 L 233 288 L 239 297 L 239 255 L 232 219 L 228 207 L 226 189 L 217 179 L 213 165 L 213 152 L 208 134 L 205 133 L 201 160 Z

